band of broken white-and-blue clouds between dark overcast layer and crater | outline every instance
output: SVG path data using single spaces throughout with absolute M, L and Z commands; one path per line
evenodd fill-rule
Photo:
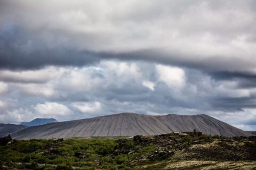
M 36 117 L 68 121 L 122 112 L 205 113 L 230 124 L 244 125 L 246 122 L 242 122 L 241 117 L 245 121 L 255 119 L 255 111 L 246 109 L 254 100 L 243 104 L 239 103 L 239 98 L 251 98 L 256 90 L 241 88 L 238 79 L 216 80 L 195 70 L 185 72 L 179 67 L 133 61 L 108 61 L 62 69 L 63 74 L 44 83 L 3 82 L 10 93 L 0 96 L 4 101 L 4 107 L 0 102 L 0 121 L 31 121 Z M 167 86 L 163 87 L 159 81 Z M 230 106 L 229 101 L 217 103 L 218 99 L 226 97 L 239 99 L 237 105 Z M 213 99 L 213 104 L 223 111 L 217 113 L 211 103 Z M 44 103 L 46 100 L 51 102 Z M 58 103 L 60 101 L 65 105 Z M 243 110 L 230 111 L 234 107 Z

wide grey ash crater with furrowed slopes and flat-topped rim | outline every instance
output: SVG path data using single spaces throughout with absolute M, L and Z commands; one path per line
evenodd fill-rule
M 201 131 L 204 134 L 227 137 L 250 136 L 249 132 L 235 128 L 207 115 L 149 116 L 121 113 L 83 120 L 49 123 L 28 127 L 12 133 L 14 139 L 51 139 L 71 137 L 114 137 L 155 135 L 175 131 Z

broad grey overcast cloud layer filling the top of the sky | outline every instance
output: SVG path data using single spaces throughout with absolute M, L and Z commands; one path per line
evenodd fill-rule
M 100 57 L 255 74 L 254 3 L 1 1 L 0 67 L 82 66 Z

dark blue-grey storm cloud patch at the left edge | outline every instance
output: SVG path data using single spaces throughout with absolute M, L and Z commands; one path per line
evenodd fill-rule
M 28 32 L 19 28 L 8 28 L 0 32 L 2 69 L 38 69 L 47 65 L 82 66 L 99 61 L 99 57 L 90 52 L 61 46 L 47 47 L 40 40 L 30 38 Z

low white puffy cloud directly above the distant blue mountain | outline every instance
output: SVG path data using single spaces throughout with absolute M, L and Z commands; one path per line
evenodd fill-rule
M 70 109 L 62 104 L 55 102 L 46 102 L 44 104 L 37 104 L 34 109 L 37 113 L 44 116 L 52 115 L 68 115 L 71 113 Z

